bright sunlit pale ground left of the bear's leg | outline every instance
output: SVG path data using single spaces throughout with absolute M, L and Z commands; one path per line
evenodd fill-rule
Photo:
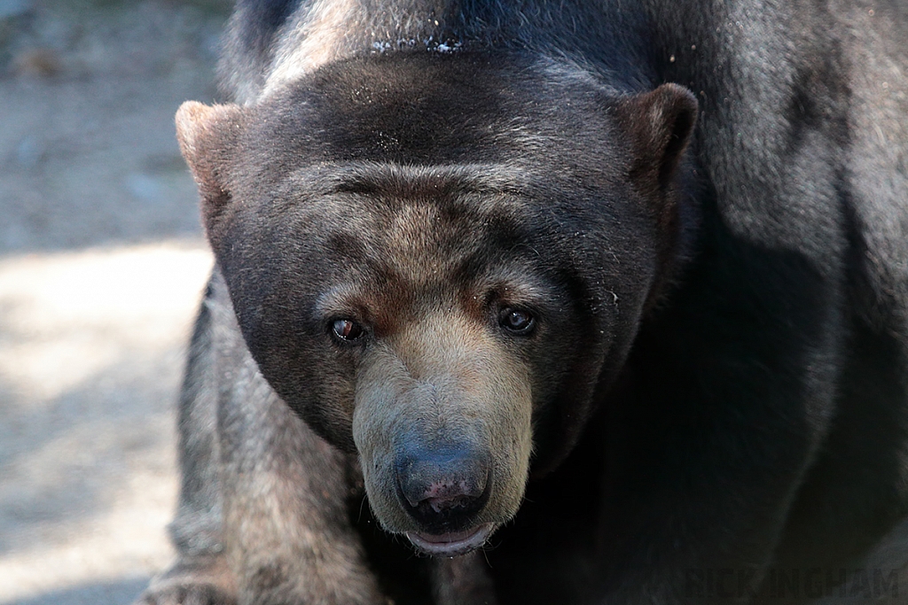
M 179 242 L 0 260 L 0 603 L 170 561 L 173 403 L 211 265 Z

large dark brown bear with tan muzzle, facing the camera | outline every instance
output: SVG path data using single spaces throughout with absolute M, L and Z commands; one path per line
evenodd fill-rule
M 139 602 L 901 602 L 906 43 L 898 0 L 240 0 L 176 116 L 215 268 Z

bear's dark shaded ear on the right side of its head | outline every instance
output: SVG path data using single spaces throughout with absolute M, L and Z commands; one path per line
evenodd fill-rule
M 662 84 L 617 103 L 618 122 L 630 138 L 630 176 L 646 190 L 668 189 L 696 123 L 696 97 L 684 86 Z

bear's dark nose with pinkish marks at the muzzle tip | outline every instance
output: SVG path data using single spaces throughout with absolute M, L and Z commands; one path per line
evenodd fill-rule
M 489 500 L 489 456 L 469 446 L 410 447 L 395 467 L 401 504 L 429 532 L 463 529 Z

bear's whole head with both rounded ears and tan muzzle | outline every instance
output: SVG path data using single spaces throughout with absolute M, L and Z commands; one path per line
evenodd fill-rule
M 665 278 L 695 109 L 467 54 L 183 106 L 252 356 L 359 454 L 386 530 L 469 551 L 517 512 L 531 461 L 568 453 Z

